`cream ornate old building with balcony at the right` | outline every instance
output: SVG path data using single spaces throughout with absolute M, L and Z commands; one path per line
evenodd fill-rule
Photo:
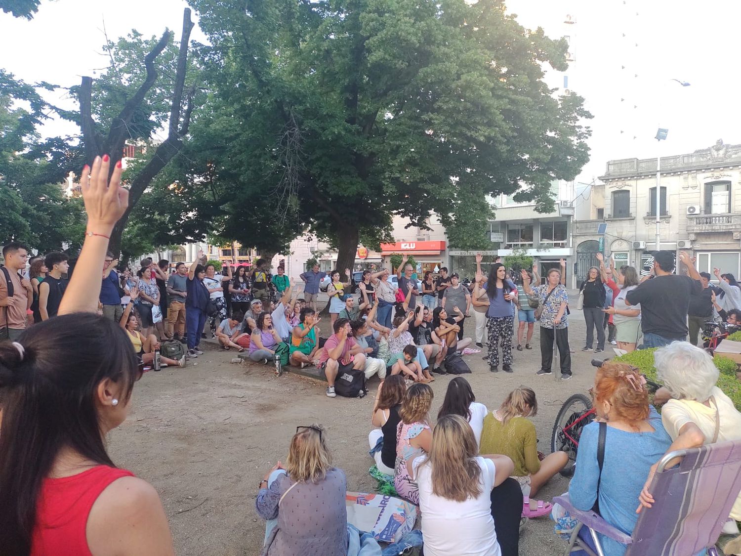
M 576 275 L 582 277 L 598 250 L 598 226 L 606 223 L 605 254 L 617 265 L 648 265 L 656 249 L 657 159 L 607 163 L 602 185 L 577 211 L 574 226 Z M 659 189 L 662 251 L 688 249 L 697 268 L 740 274 L 741 145 L 718 141 L 693 153 L 662 156 Z M 648 268 L 648 266 L 646 267 Z

